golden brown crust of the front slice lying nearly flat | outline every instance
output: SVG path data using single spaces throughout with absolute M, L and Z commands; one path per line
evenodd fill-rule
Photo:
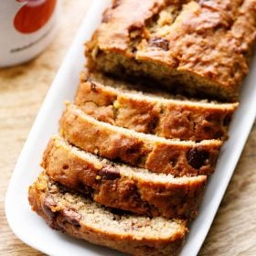
M 78 239 L 88 240 L 91 243 L 110 247 L 132 255 L 177 255 L 187 233 L 186 222 L 176 220 L 179 229 L 174 230 L 166 239 L 138 239 L 130 234 L 115 233 L 113 229 L 100 229 L 84 220 L 82 212 L 72 208 L 69 204 L 63 205 L 59 201 L 65 193 L 59 185 L 52 183 L 48 176 L 41 174 L 37 182 L 29 187 L 29 203 L 34 211 L 41 216 L 53 229 L 67 232 Z M 96 211 L 97 208 L 95 207 Z M 104 209 L 107 211 L 107 209 Z M 103 219 L 102 219 L 103 221 Z M 167 220 L 166 220 L 167 221 Z M 103 225 L 103 224 L 102 224 Z

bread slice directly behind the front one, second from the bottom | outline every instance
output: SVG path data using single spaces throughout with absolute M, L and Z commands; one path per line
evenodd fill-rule
M 174 177 L 113 163 L 59 135 L 51 137 L 41 165 L 50 178 L 101 205 L 169 219 L 195 218 L 207 181 L 207 176 Z

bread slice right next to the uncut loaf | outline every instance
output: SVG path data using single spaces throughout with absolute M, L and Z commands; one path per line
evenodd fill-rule
M 193 141 L 227 139 L 238 103 L 175 100 L 157 90 L 143 91 L 149 90 L 85 70 L 75 103 L 102 122 L 140 133 Z

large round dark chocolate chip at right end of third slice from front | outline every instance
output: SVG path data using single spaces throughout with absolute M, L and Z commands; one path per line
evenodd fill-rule
M 187 152 L 187 162 L 195 169 L 199 169 L 201 166 L 206 164 L 209 154 L 205 150 L 192 148 Z

